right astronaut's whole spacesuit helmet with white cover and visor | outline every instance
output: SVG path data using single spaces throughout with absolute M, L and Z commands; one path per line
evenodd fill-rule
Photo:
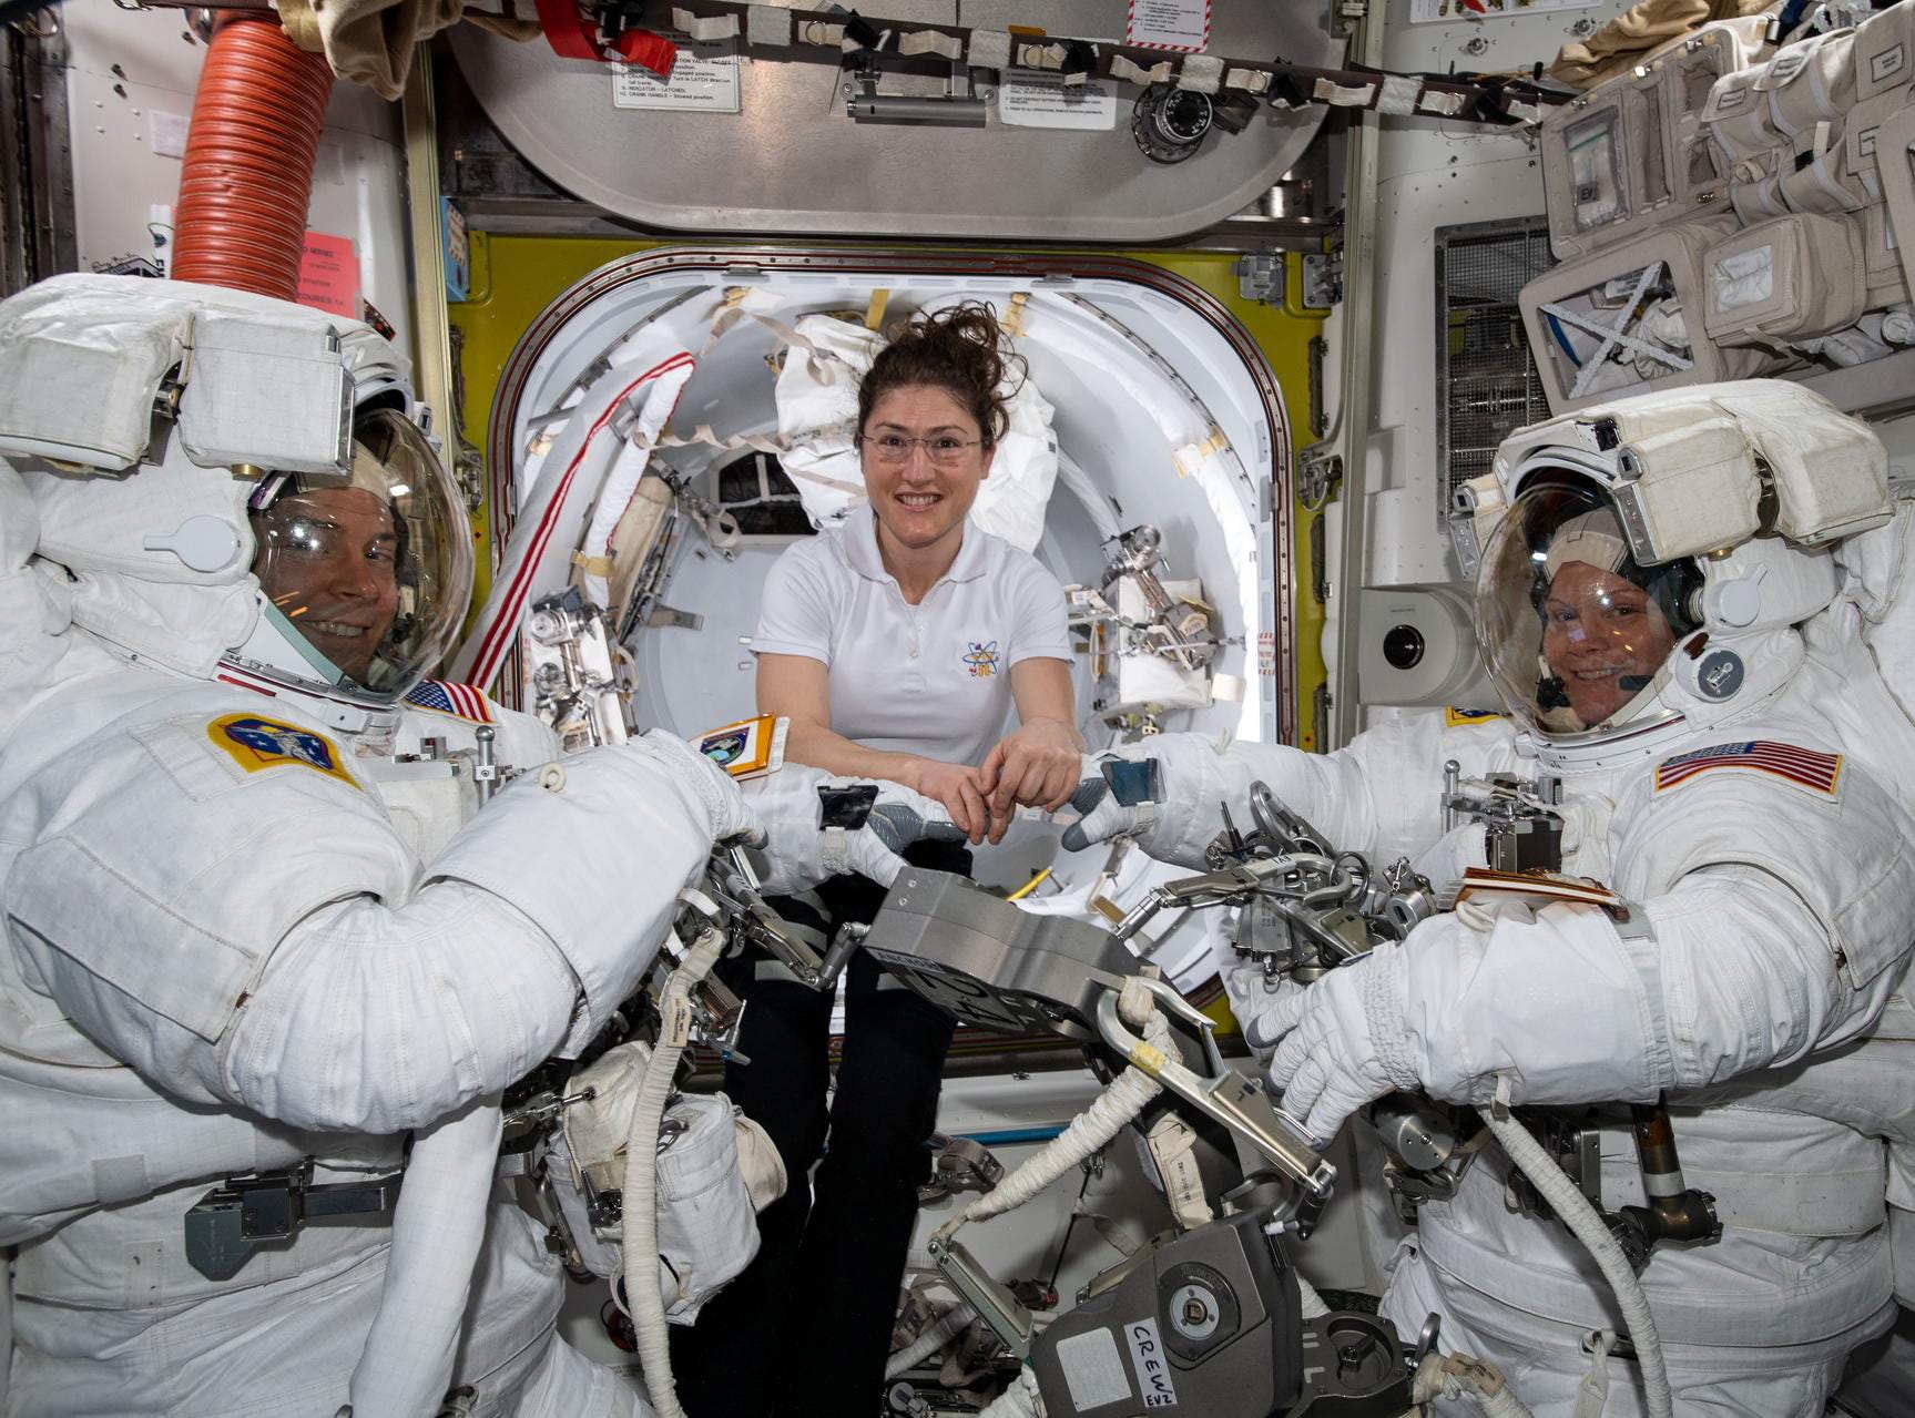
M 1509 434 L 1457 490 L 1476 643 L 1555 769 L 1733 721 L 1804 660 L 1846 538 L 1892 515 L 1881 438 L 1787 381 L 1691 385 Z

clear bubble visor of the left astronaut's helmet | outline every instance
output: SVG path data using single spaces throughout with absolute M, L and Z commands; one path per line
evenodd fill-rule
M 352 425 L 352 475 L 268 475 L 253 574 L 312 681 L 396 700 L 452 647 L 471 597 L 465 513 L 425 434 L 394 410 Z

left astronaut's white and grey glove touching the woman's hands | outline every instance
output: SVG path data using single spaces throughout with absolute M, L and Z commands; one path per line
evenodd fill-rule
M 753 798 L 764 829 L 758 842 L 760 884 L 766 892 L 789 896 L 845 873 L 869 876 L 890 886 L 904 871 L 898 855 L 912 842 L 935 838 L 963 840 L 944 804 L 896 783 L 877 783 L 877 802 L 864 827 L 823 827 L 818 788 L 862 787 L 873 779 L 846 779 L 822 767 L 787 764 L 762 779 Z

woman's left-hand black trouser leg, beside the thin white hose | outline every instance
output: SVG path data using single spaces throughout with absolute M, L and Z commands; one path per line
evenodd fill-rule
M 774 901 L 797 926 L 808 922 L 800 901 Z M 822 953 L 822 947 L 820 947 Z M 812 1211 L 810 1171 L 825 1141 L 825 1093 L 831 1085 L 831 995 L 795 980 L 758 978 L 774 970 L 762 957 L 735 963 L 728 982 L 745 999 L 737 1052 L 749 1064 L 726 1066 L 724 1091 L 764 1127 L 785 1163 L 785 1194 L 758 1213 L 758 1255 L 720 1290 L 697 1324 L 672 1326 L 672 1370 L 678 1401 L 691 1418 L 760 1418 L 789 1382 L 795 1311 L 793 1267 Z M 751 1363 L 739 1363 L 751 1353 Z

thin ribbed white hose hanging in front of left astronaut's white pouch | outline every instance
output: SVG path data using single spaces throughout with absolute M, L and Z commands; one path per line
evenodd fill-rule
M 672 1097 L 678 1058 L 691 1041 L 691 989 L 722 949 L 722 932 L 703 932 L 665 982 L 659 997 L 659 1043 L 632 1100 L 632 1127 L 624 1142 L 624 1213 L 619 1225 L 624 1246 L 624 1307 L 632 1317 L 638 1361 L 659 1418 L 686 1418 L 672 1382 L 672 1345 L 665 1328 L 665 1296 L 659 1290 L 659 1123 Z

